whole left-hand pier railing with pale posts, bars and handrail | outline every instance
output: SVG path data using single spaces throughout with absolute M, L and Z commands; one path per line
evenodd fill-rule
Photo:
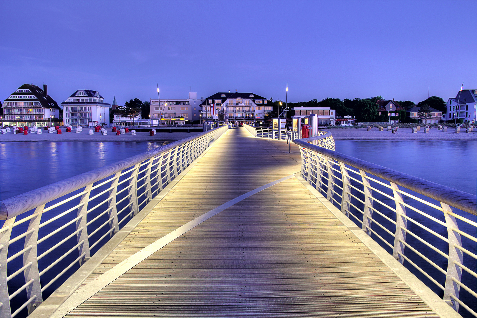
M 227 129 L 1 201 L 0 318 L 31 313 Z

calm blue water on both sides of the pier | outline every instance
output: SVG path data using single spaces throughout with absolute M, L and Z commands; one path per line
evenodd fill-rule
M 163 144 L 166 142 L 0 143 L 0 199 L 61 181 Z M 336 141 L 336 151 L 477 194 L 477 142 L 474 141 Z M 411 229 L 413 225 L 408 222 L 408 226 Z M 437 228 L 432 228 L 437 231 Z M 412 230 L 425 239 L 433 239 L 419 228 Z M 445 235 L 445 233 L 442 234 Z M 406 241 L 413 244 L 419 243 L 413 242 L 410 236 L 406 238 Z M 446 244 L 436 243 L 436 247 L 441 250 L 447 249 Z M 475 246 L 471 249 L 475 250 Z M 19 261 L 21 261 L 20 258 Z M 427 263 L 418 260 L 416 263 L 433 277 L 440 275 L 435 273 L 436 270 Z M 467 264 L 466 259 L 465 264 Z M 444 260 L 440 266 L 445 267 L 446 261 Z M 426 278 L 420 273 L 413 268 L 409 269 L 427 283 Z M 75 268 L 71 269 L 72 272 L 74 270 Z M 475 289 L 475 278 L 467 276 L 463 277 L 463 281 Z M 50 288 L 54 290 L 60 283 L 59 281 Z M 15 290 L 23 282 L 18 284 L 20 285 L 12 285 L 10 289 Z M 432 283 L 428 286 L 440 295 L 440 291 L 436 290 Z M 464 294 L 461 296 L 461 299 L 466 299 L 467 304 L 475 301 Z M 467 317 L 467 314 L 462 311 L 461 314 Z

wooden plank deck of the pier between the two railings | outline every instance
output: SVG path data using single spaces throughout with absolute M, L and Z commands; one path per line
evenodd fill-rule
M 99 291 L 61 316 L 439 317 L 294 176 L 157 249 L 298 173 L 291 148 L 228 130 L 71 298 Z

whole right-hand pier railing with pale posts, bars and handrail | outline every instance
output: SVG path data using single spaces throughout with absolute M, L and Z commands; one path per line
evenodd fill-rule
M 454 308 L 476 313 L 477 196 L 297 139 L 302 177 Z

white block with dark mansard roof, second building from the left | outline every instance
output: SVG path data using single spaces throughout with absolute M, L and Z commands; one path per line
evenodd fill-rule
M 65 125 L 88 126 L 89 122 L 109 125 L 111 104 L 104 103 L 103 96 L 97 91 L 78 90 L 61 105 Z

